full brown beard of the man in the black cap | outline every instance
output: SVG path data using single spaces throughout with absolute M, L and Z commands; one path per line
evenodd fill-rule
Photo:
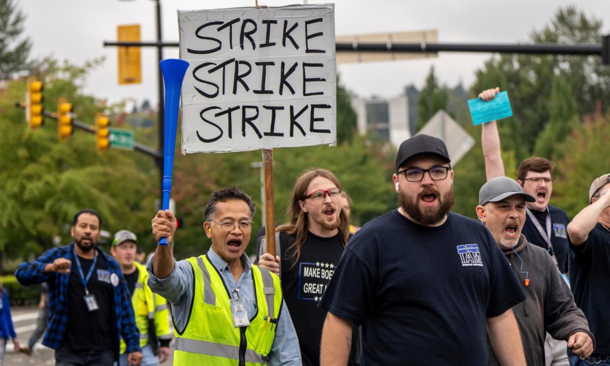
M 419 202 L 422 199 L 422 196 L 429 194 L 436 195 L 436 199 L 439 200 L 438 208 L 420 207 Z M 436 189 L 428 187 L 417 195 L 415 199 L 411 196 L 407 196 L 402 190 L 398 191 L 398 204 L 403 207 L 404 212 L 408 213 L 415 222 L 425 226 L 433 225 L 443 220 L 454 203 L 455 197 L 453 196 L 453 187 L 443 196 L 441 196 Z

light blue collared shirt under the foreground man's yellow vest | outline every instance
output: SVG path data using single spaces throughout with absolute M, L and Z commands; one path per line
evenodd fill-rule
M 220 272 L 224 285 L 229 292 L 239 290 L 240 297 L 245 298 L 248 304 L 248 318 L 256 313 L 256 295 L 254 293 L 254 281 L 252 279 L 252 264 L 246 254 L 242 254 L 243 273 L 235 283 L 229 264 L 225 262 L 210 247 L 207 257 L 214 267 Z M 174 259 L 174 270 L 167 278 L 160 279 L 152 273 L 152 257 L 146 264 L 148 271 L 148 285 L 152 292 L 158 293 L 171 303 L 171 315 L 174 326 L 183 331 L 187 326 L 188 314 L 193 302 L 193 267 L 186 260 L 176 262 Z M 269 361 L 273 366 L 301 366 L 301 351 L 299 341 L 296 338 L 295 327 L 292 318 L 282 300 L 282 310 L 278 320 L 278 328 L 275 331 L 273 345 L 269 353 Z

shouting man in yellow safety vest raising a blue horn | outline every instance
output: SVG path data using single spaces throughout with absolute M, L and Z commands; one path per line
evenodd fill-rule
M 203 224 L 212 246 L 179 262 L 173 213 L 160 210 L 152 219 L 155 239 L 165 237 L 168 245 L 157 246 L 146 264 L 148 285 L 171 303 L 174 365 L 301 365 L 279 278 L 244 253 L 254 211 L 254 201 L 239 188 L 214 192 Z

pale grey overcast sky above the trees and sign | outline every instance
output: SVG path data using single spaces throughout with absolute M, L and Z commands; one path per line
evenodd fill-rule
M 176 10 L 219 9 L 254 6 L 254 0 L 194 1 L 160 0 L 163 40 L 178 41 Z M 295 0 L 271 0 L 260 5 L 295 4 Z M 315 3 L 309 1 L 310 4 Z M 321 1 L 320 3 L 323 3 Z M 85 60 L 105 56 L 106 62 L 91 72 L 85 93 L 117 102 L 135 98 L 157 103 L 156 49 L 142 51 L 143 82 L 118 85 L 117 49 L 102 46 L 117 37 L 117 26 L 140 24 L 142 40 L 156 40 L 155 2 L 151 0 L 18 0 L 27 16 L 25 32 L 32 40 L 32 56 L 52 56 L 82 65 Z M 548 24 L 559 7 L 578 4 L 587 16 L 603 21 L 610 34 L 610 0 L 569 1 L 361 1 L 335 2 L 336 35 L 436 29 L 439 42 L 514 43 L 528 41 L 530 32 Z M 178 48 L 165 48 L 164 57 L 178 57 Z M 338 65 L 340 83 L 360 96 L 399 95 L 405 85 L 422 87 L 431 65 L 440 80 L 451 87 L 464 82 L 468 87 L 475 70 L 490 54 L 448 53 L 436 59 Z

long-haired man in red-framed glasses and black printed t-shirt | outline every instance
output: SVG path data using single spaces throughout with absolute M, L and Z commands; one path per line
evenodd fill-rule
M 290 221 L 279 226 L 278 256 L 262 248 L 258 265 L 282 279 L 303 365 L 320 364 L 320 336 L 326 311 L 317 307 L 348 240 L 350 219 L 341 207 L 341 185 L 325 169 L 296 179 L 288 208 Z

